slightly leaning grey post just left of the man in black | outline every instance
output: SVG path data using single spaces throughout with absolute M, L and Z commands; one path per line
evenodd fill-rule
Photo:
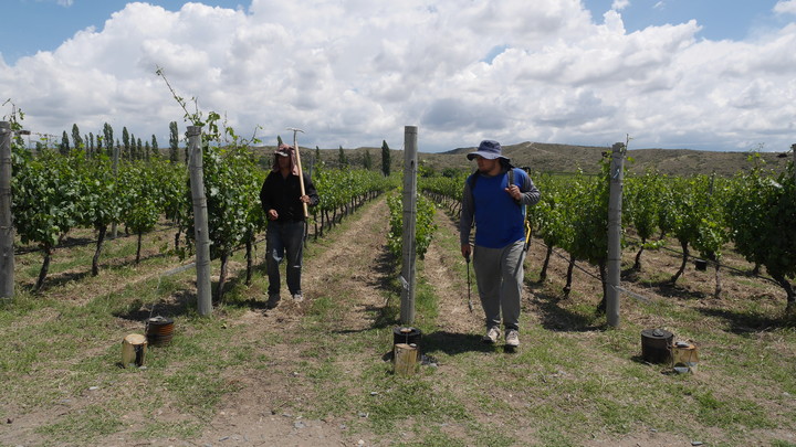
M 207 196 L 202 168 L 201 126 L 188 126 L 188 150 L 191 198 L 193 200 L 193 235 L 196 240 L 197 305 L 199 315 L 212 312 L 210 289 L 210 232 L 208 231 Z

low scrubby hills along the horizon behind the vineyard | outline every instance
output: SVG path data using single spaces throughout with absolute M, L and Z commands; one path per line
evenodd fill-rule
M 599 172 L 599 161 L 603 153 L 609 150 L 607 147 L 596 146 L 573 146 L 556 145 L 546 142 L 521 142 L 503 147 L 503 153 L 512 160 L 516 167 L 528 167 L 531 172 L 577 172 L 578 169 L 586 173 Z M 270 164 L 270 153 L 274 147 L 258 147 L 262 153 L 263 166 Z M 434 172 L 442 172 L 447 169 L 470 171 L 474 169 L 474 162 L 468 161 L 465 155 L 475 150 L 475 147 L 458 148 L 447 152 L 419 152 L 419 163 L 426 169 Z M 343 152 L 353 167 L 362 167 L 365 152 L 369 152 L 371 169 L 381 169 L 381 148 L 356 148 L 344 149 Z M 314 162 L 315 150 L 302 148 L 302 164 L 305 167 Z M 339 166 L 339 149 L 321 149 L 322 161 L 329 167 Z M 661 173 L 670 175 L 693 175 L 710 174 L 715 172 L 719 175 L 731 177 L 739 171 L 752 168 L 747 161 L 748 152 L 716 152 L 691 149 L 631 149 L 628 150 L 627 168 L 632 173 L 641 173 L 647 169 L 656 169 Z M 761 159 L 765 162 L 765 169 L 782 171 L 785 169 L 792 155 L 784 152 L 760 152 Z M 390 150 L 391 170 L 400 170 L 404 166 L 404 151 Z

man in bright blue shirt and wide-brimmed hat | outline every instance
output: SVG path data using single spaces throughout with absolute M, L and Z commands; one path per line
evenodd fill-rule
M 505 345 L 520 345 L 520 310 L 525 259 L 525 206 L 540 201 L 531 177 L 511 166 L 498 141 L 484 140 L 478 151 L 478 171 L 468 177 L 462 194 L 459 234 L 462 256 L 470 258 L 486 321 L 485 343 L 500 338 L 501 313 Z M 475 221 L 475 247 L 470 228 Z M 530 235 L 528 235 L 530 236 Z

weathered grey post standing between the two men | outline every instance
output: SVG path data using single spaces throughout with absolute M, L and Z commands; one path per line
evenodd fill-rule
M 404 234 L 401 323 L 415 322 L 415 225 L 417 222 L 417 126 L 404 127 Z

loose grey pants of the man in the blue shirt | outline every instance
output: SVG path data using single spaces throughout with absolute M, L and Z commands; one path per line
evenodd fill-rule
M 473 268 L 486 328 L 500 327 L 502 311 L 503 327 L 520 329 L 524 245 L 525 241 L 517 241 L 503 248 L 475 246 Z

